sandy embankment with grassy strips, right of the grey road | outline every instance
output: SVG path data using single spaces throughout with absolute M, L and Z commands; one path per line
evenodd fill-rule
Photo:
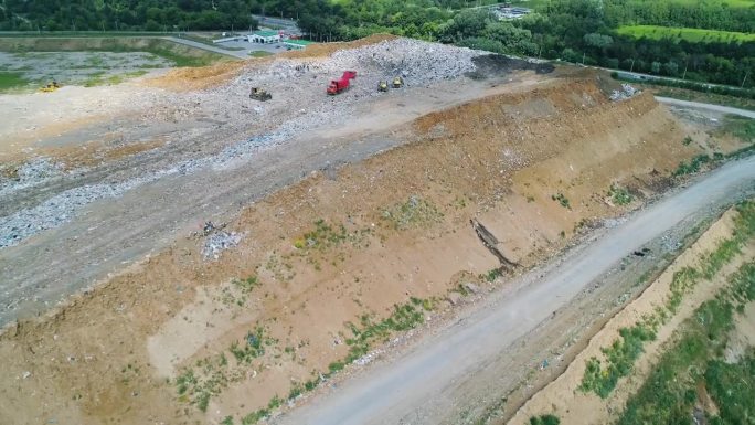
M 509 424 L 549 415 L 562 424 L 746 417 L 747 383 L 724 394 L 729 378 L 705 369 L 752 362 L 752 332 L 741 325 L 752 321 L 755 299 L 754 235 L 755 203 L 730 210 Z

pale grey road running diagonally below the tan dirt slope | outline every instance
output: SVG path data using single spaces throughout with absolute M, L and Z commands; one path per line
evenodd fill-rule
M 689 188 L 649 206 L 570 261 L 472 315 L 389 364 L 347 381 L 338 390 L 281 416 L 275 424 L 437 424 L 438 405 L 474 380 L 474 371 L 533 330 L 621 258 L 685 217 L 755 193 L 755 157 L 731 162 Z M 432 407 L 427 407 L 432 406 Z

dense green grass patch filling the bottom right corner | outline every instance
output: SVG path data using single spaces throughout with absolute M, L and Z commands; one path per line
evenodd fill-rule
M 676 343 L 661 357 L 618 421 L 629 424 L 692 423 L 695 406 L 708 394 L 714 412 L 701 412 L 710 424 L 755 422 L 755 349 L 737 362 L 723 361 L 734 317 L 755 300 L 755 264 L 743 265 L 727 288 L 704 302 L 677 331 Z

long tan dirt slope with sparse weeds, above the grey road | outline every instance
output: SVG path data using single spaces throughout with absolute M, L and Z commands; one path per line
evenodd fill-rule
M 470 219 L 507 257 L 531 265 L 581 226 L 632 206 L 606 200 L 612 183 L 637 205 L 701 150 L 682 145 L 685 131 L 652 97 L 609 103 L 594 78 L 472 102 L 400 134 L 412 142 L 245 210 L 226 227 L 243 234 L 240 245 L 217 261 L 203 258 L 201 236 L 181 238 L 6 331 L 0 422 L 219 423 L 246 414 L 343 358 L 344 322 L 385 317 L 411 296 L 443 299 L 460 283 L 483 285 L 480 275 L 500 264 Z M 231 284 L 252 276 L 248 293 Z M 269 343 L 238 362 L 228 349 L 249 332 Z M 225 364 L 208 365 L 221 353 Z M 217 384 L 206 413 L 177 394 L 188 370 Z

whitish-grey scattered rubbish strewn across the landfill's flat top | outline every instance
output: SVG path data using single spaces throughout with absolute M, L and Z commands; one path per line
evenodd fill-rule
M 164 176 L 185 176 L 203 169 L 223 169 L 253 157 L 260 149 L 278 146 L 302 132 L 325 125 L 345 123 L 355 103 L 384 95 L 375 89 L 379 79 L 402 75 L 407 87 L 427 86 L 475 71 L 472 60 L 480 54 L 482 52 L 469 49 L 396 39 L 342 50 L 330 57 L 278 59 L 264 66 L 252 64 L 225 85 L 201 92 L 174 94 L 172 100 L 164 93 L 156 95 L 157 97 L 147 96 L 142 99 L 150 106 L 146 108 L 149 111 L 146 110 L 142 115 L 146 121 L 180 123 L 211 118 L 221 123 L 219 126 L 240 129 L 247 129 L 249 123 L 253 123 L 258 132 L 244 140 L 225 141 L 210 155 L 183 159 L 172 167 L 132 174 L 137 177 L 131 176 L 121 181 L 77 187 L 61 192 L 34 208 L 1 217 L 0 248 L 15 245 L 35 233 L 70 221 L 88 203 L 118 198 L 127 190 Z M 344 70 L 358 72 L 354 86 L 338 97 L 325 96 L 327 84 L 340 76 Z M 269 89 L 274 99 L 267 103 L 251 100 L 251 87 Z M 191 134 L 184 136 L 190 137 Z M 63 172 L 60 164 L 46 159 L 24 164 L 18 170 L 17 179 L 0 180 L 0 201 L 3 194 L 32 188 Z M 225 235 L 224 241 L 232 242 L 232 236 Z M 226 246 L 220 241 L 215 242 L 212 246 Z M 215 255 L 215 248 L 208 249 L 211 256 Z

